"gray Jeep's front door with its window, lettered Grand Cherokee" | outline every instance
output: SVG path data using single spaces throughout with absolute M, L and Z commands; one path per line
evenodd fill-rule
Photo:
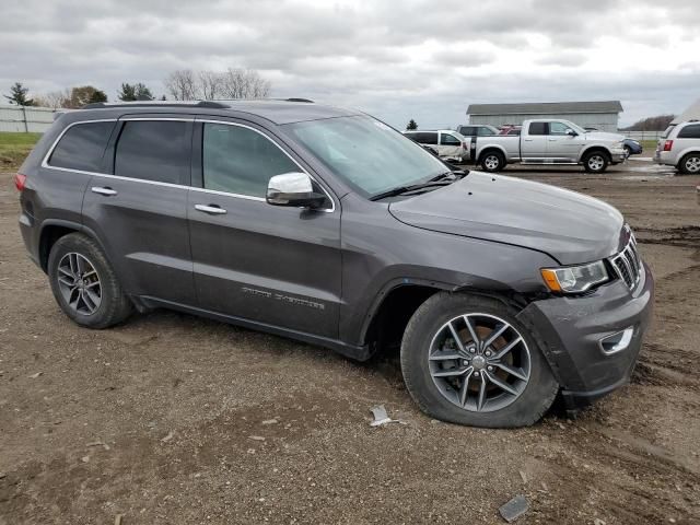
M 195 144 L 199 187 L 187 215 L 200 306 L 337 338 L 339 206 L 330 197 L 317 211 L 268 205 L 270 177 L 304 170 L 253 125 L 197 122 Z

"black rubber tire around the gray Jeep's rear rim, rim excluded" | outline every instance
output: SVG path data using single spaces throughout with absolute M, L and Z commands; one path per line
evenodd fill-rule
M 95 279 L 98 283 L 100 304 L 94 312 L 81 313 L 77 306 L 71 306 L 66 299 L 65 281 L 60 283 L 59 277 L 66 279 L 67 276 L 59 270 L 59 265 L 65 264 L 63 261 L 66 257 L 69 257 L 69 254 L 81 256 L 81 260 L 91 265 L 96 272 Z M 94 329 L 107 328 L 121 323 L 131 314 L 133 305 L 124 293 L 119 280 L 102 248 L 95 241 L 82 233 L 65 235 L 54 244 L 48 256 L 48 278 L 56 302 L 63 313 L 80 326 Z M 70 280 L 70 277 L 68 279 Z M 74 296 L 71 292 L 70 298 Z M 91 304 L 94 306 L 93 303 Z

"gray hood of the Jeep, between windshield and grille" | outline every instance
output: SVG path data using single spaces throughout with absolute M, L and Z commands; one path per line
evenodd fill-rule
M 450 186 L 389 205 L 399 221 L 424 230 L 544 252 L 562 265 L 618 253 L 629 234 L 602 200 L 547 184 L 469 172 Z

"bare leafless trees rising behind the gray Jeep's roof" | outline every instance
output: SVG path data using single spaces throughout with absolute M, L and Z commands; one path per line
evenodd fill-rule
M 270 82 L 257 71 L 233 69 L 226 71 L 173 71 L 163 82 L 176 101 L 215 98 L 264 98 L 270 95 Z

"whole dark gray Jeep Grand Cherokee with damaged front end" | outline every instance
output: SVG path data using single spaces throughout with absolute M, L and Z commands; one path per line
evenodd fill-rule
M 302 101 L 97 104 L 22 165 L 20 228 L 68 317 L 166 307 L 355 360 L 400 345 L 434 418 L 537 421 L 629 380 L 653 279 L 622 215 L 451 168 Z

